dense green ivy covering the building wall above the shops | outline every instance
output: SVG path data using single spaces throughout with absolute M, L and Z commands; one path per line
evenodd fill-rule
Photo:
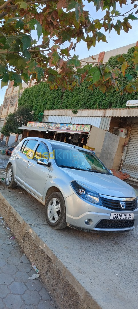
M 131 61 L 135 47 L 128 50 L 127 54 L 123 57 L 129 63 L 126 73 L 131 74 L 136 78 L 137 73 L 134 71 L 134 65 Z M 117 58 L 110 57 L 107 64 L 111 66 L 119 66 L 120 63 Z M 120 65 L 121 68 L 121 65 Z M 119 83 L 123 86 L 127 81 L 126 77 L 121 78 Z M 138 99 L 137 92 L 123 93 L 120 95 L 119 91 L 111 91 L 109 95 L 102 93 L 98 88 L 94 87 L 91 91 L 88 89 L 91 83 L 84 80 L 80 87 L 75 86 L 73 91 L 50 90 L 46 82 L 41 82 L 23 91 L 22 96 L 19 98 L 19 106 L 27 106 L 30 111 L 34 111 L 34 118 L 37 121 L 40 112 L 45 109 L 72 109 L 76 114 L 78 109 L 96 109 L 96 108 L 125 108 L 127 100 Z

